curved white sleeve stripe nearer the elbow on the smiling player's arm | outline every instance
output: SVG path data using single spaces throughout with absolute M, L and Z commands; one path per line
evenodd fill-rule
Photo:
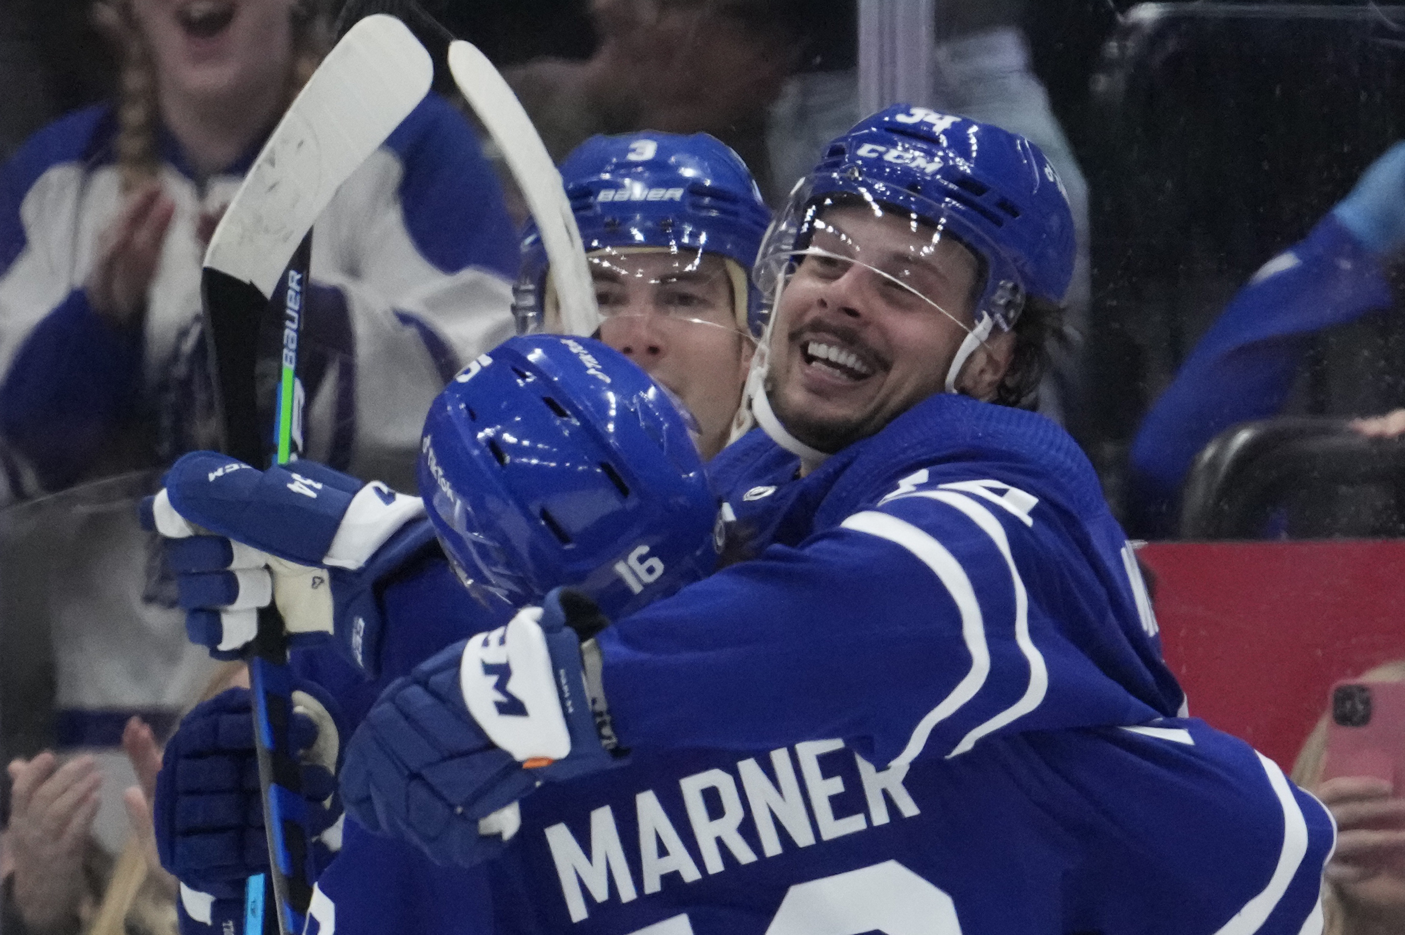
M 960 710 L 985 685 L 985 678 L 991 672 L 991 649 L 985 642 L 985 622 L 981 618 L 981 604 L 975 598 L 975 588 L 971 587 L 971 578 L 967 577 L 955 556 L 910 522 L 903 522 L 885 512 L 864 511 L 844 519 L 843 526 L 856 532 L 867 532 L 880 539 L 888 539 L 910 552 L 917 560 L 932 569 L 933 574 L 937 576 L 941 585 L 947 590 L 947 594 L 955 601 L 957 611 L 961 614 L 961 637 L 971 653 L 971 670 L 957 682 L 951 694 L 943 698 L 941 703 L 927 712 L 917 723 L 912 731 L 912 737 L 908 740 L 908 745 L 889 764 L 889 768 L 908 765 L 922 752 L 922 748 L 927 744 L 927 737 L 932 736 L 932 730 Z

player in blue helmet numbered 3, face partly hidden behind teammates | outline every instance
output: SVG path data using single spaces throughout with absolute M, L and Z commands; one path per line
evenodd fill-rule
M 683 402 L 711 458 L 728 441 L 763 326 L 750 270 L 770 211 L 756 183 L 707 133 L 593 136 L 561 174 L 604 316 L 600 340 Z M 532 223 L 520 282 L 520 329 L 554 320 L 547 251 Z

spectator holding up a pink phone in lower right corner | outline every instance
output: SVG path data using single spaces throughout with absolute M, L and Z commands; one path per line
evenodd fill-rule
M 1405 661 L 1361 675 L 1364 682 L 1405 679 Z M 1324 935 L 1405 931 L 1405 799 L 1374 776 L 1322 781 L 1331 712 L 1322 715 L 1293 765 L 1293 781 L 1311 790 L 1336 820 L 1336 851 L 1326 865 Z

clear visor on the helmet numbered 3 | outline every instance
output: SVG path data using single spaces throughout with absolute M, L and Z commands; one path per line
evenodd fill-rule
M 747 277 L 740 264 L 694 247 L 608 247 L 586 261 L 600 309 L 600 337 L 618 327 L 746 330 Z M 548 295 L 548 314 L 555 302 Z

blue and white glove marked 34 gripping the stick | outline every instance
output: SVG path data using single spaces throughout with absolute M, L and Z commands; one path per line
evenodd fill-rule
M 419 497 L 311 460 L 256 470 L 208 451 L 176 462 L 142 522 L 166 536 L 185 629 L 212 656 L 236 658 L 274 599 L 295 640 L 334 636 L 372 678 L 377 585 L 434 541 Z

